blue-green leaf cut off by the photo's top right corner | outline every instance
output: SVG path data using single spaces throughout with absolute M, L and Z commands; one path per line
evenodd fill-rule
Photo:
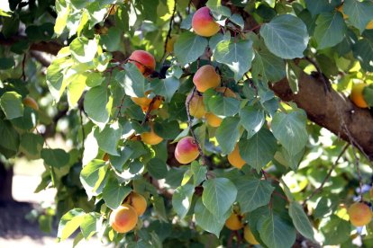
M 363 32 L 368 22 L 373 20 L 373 3 L 371 1 L 346 0 L 343 4 L 343 12 L 349 16 L 352 25 Z

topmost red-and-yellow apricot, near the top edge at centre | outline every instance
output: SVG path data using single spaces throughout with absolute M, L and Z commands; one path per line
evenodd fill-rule
M 202 7 L 196 11 L 192 18 L 192 27 L 196 34 L 210 37 L 220 30 L 220 26 L 215 22 L 210 9 Z

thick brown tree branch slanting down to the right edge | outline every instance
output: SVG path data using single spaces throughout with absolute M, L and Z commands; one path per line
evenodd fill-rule
M 358 108 L 333 90 L 325 93 L 323 81 L 311 75 L 300 76 L 296 94 L 291 91 L 287 78 L 271 88 L 281 100 L 296 102 L 305 110 L 309 120 L 350 143 L 354 142 L 373 160 L 373 117 L 368 110 Z

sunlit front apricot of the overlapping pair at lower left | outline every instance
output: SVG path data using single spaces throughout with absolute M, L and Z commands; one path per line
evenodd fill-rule
M 137 224 L 138 216 L 136 210 L 128 204 L 123 204 L 113 210 L 110 215 L 110 226 L 118 233 L 130 232 Z

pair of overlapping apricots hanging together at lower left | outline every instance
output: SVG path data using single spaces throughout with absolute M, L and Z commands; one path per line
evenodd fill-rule
M 139 217 L 147 207 L 146 199 L 136 192 L 131 192 L 123 204 L 113 210 L 109 224 L 118 233 L 127 233 L 137 225 Z

